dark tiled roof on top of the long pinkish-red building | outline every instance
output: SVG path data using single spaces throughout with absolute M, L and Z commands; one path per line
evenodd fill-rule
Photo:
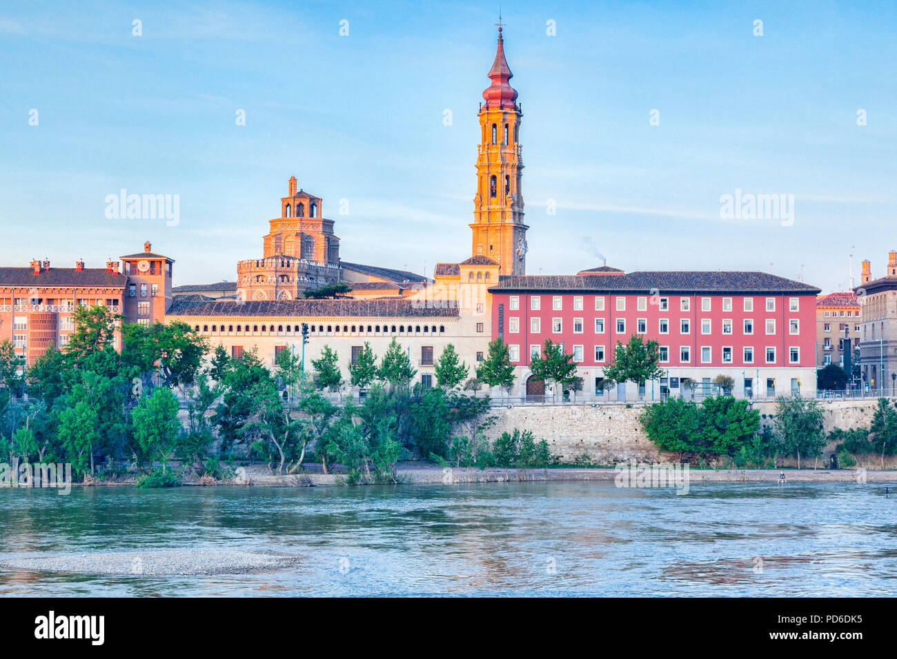
M 614 277 L 601 274 L 532 275 L 500 281 L 490 292 L 529 290 L 619 292 L 683 292 L 683 293 L 802 293 L 816 294 L 820 289 L 775 274 L 722 271 L 640 271 Z

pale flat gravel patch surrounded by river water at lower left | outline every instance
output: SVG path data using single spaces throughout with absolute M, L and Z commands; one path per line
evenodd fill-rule
M 296 557 L 261 551 L 165 550 L 57 554 L 0 559 L 0 568 L 91 575 L 226 575 L 285 568 Z

